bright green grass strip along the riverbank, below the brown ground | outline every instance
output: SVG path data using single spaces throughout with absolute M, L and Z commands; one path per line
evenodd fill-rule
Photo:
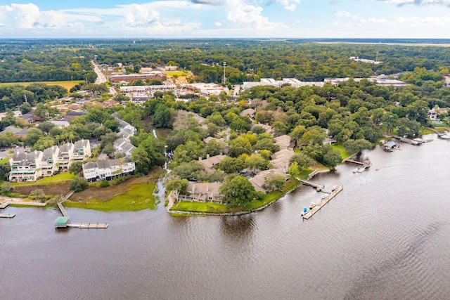
M 156 209 L 153 189 L 155 183 L 139 183 L 129 189 L 113 196 L 107 201 L 87 200 L 85 202 L 65 202 L 66 207 L 77 207 L 81 209 L 96 209 L 100 211 L 139 211 L 142 209 Z

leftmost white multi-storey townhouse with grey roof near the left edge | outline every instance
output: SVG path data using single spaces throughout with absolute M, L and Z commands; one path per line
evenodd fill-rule
M 42 151 L 30 153 L 15 151 L 13 157 L 9 159 L 11 171 L 9 181 L 37 181 L 41 176 Z

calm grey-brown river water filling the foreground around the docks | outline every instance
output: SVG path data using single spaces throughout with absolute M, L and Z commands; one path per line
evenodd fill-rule
M 302 207 L 323 194 L 307 186 L 236 217 L 176 218 L 163 204 L 68 209 L 72 223 L 106 230 L 55 230 L 58 211 L 8 207 L 16 216 L 0 219 L 0 297 L 449 299 L 450 141 L 431 137 L 366 152 L 364 173 L 347 164 L 314 177 L 344 190 L 308 221 Z

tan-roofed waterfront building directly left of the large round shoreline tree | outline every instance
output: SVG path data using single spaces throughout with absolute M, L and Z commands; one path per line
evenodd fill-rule
M 186 194 L 178 195 L 178 201 L 223 203 L 219 190 L 221 183 L 196 183 L 189 181 Z

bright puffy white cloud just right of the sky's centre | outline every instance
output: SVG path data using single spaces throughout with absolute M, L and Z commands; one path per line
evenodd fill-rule
M 238 26 L 245 26 L 254 30 L 276 30 L 287 27 L 283 23 L 270 22 L 269 18 L 262 15 L 261 6 L 253 6 L 240 0 L 227 0 L 227 20 Z

